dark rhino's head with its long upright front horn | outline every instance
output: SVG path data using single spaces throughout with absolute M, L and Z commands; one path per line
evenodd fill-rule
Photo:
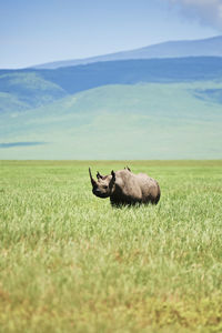
M 101 175 L 97 173 L 97 181 L 92 178 L 91 170 L 89 168 L 90 180 L 92 184 L 92 193 L 99 198 L 108 198 L 114 190 L 115 173 L 111 172 L 109 175 Z

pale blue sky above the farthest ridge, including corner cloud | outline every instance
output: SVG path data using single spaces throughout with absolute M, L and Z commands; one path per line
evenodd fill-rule
M 222 34 L 222 0 L 0 0 L 0 69 Z

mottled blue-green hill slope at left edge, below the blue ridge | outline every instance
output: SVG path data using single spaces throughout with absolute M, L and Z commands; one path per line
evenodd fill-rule
M 16 70 L 0 71 L 0 111 L 36 108 L 67 95 L 62 88 L 38 73 Z

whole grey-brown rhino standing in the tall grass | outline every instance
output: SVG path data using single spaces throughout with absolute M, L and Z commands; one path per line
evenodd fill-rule
M 99 198 L 110 198 L 112 205 L 157 204 L 160 200 L 159 183 L 144 173 L 134 174 L 129 168 L 112 171 L 109 175 L 97 173 L 97 181 L 89 168 L 92 193 Z

